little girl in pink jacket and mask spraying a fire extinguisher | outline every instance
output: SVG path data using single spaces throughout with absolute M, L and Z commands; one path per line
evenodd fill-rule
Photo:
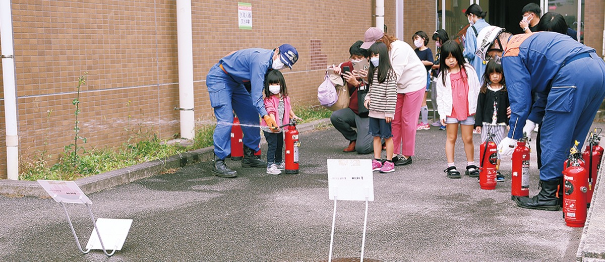
M 275 120 L 278 126 L 290 123 L 290 119 L 302 120 L 297 117 L 290 106 L 290 97 L 286 88 L 286 80 L 279 70 L 271 70 L 265 76 L 264 105 L 267 115 Z M 263 119 L 261 121 L 265 139 L 267 140 L 267 174 L 279 175 L 286 169 L 281 152 L 284 148 L 284 136 L 281 129 L 270 129 Z

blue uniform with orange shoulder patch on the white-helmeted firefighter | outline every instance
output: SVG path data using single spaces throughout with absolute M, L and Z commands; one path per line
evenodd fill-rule
M 541 120 L 540 180 L 562 177 L 569 149 L 575 140 L 581 148 L 605 97 L 603 59 L 569 36 L 538 32 L 511 36 L 502 67 L 512 111 L 508 137 L 520 139 L 526 119 Z

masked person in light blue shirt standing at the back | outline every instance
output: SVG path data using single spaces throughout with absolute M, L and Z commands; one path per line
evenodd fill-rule
M 472 4 L 466 9 L 464 14 L 466 15 L 466 18 L 468 18 L 468 22 L 471 26 L 466 30 L 463 55 L 468 63 L 477 71 L 477 79 L 479 79 L 479 82 L 481 83 L 483 79 L 480 79 L 480 76 L 483 76 L 483 73 L 485 72 L 485 62 L 477 57 L 475 52 L 477 51 L 477 35 L 483 28 L 489 25 L 485 22 L 487 12 L 483 11 L 478 4 Z

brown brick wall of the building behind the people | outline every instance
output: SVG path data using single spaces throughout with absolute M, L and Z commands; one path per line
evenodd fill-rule
M 463 0 L 444 1 L 453 11 L 469 5 Z M 42 151 L 56 160 L 71 143 L 71 100 L 77 77 L 84 71 L 88 82 L 80 94 L 79 120 L 88 148 L 121 145 L 139 128 L 162 139 L 179 132 L 179 113 L 174 110 L 178 106 L 175 1 L 11 2 L 21 163 Z M 315 105 L 323 68 L 348 59 L 348 47 L 374 25 L 375 1 L 246 1 L 252 4 L 252 30 L 238 27 L 238 1 L 191 2 L 197 125 L 212 123 L 206 73 L 230 51 L 292 44 L 300 59 L 286 72 L 290 96 L 295 104 Z M 431 36 L 436 30 L 442 0 L 384 2 L 388 34 L 411 42 L 415 31 Z M 483 0 L 481 5 L 495 8 L 491 2 Z M 507 2 L 522 6 L 529 1 Z M 584 42 L 601 54 L 605 4 L 585 2 Z M 503 15 L 520 19 L 517 13 Z M 430 47 L 434 50 L 433 41 Z M 1 88 L 0 92 L 0 134 L 5 135 Z M 5 140 L 0 139 L 0 178 L 6 177 Z

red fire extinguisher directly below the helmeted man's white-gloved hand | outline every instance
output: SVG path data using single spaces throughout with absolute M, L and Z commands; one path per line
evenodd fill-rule
M 511 199 L 529 197 L 529 137 L 525 132 L 512 153 Z

